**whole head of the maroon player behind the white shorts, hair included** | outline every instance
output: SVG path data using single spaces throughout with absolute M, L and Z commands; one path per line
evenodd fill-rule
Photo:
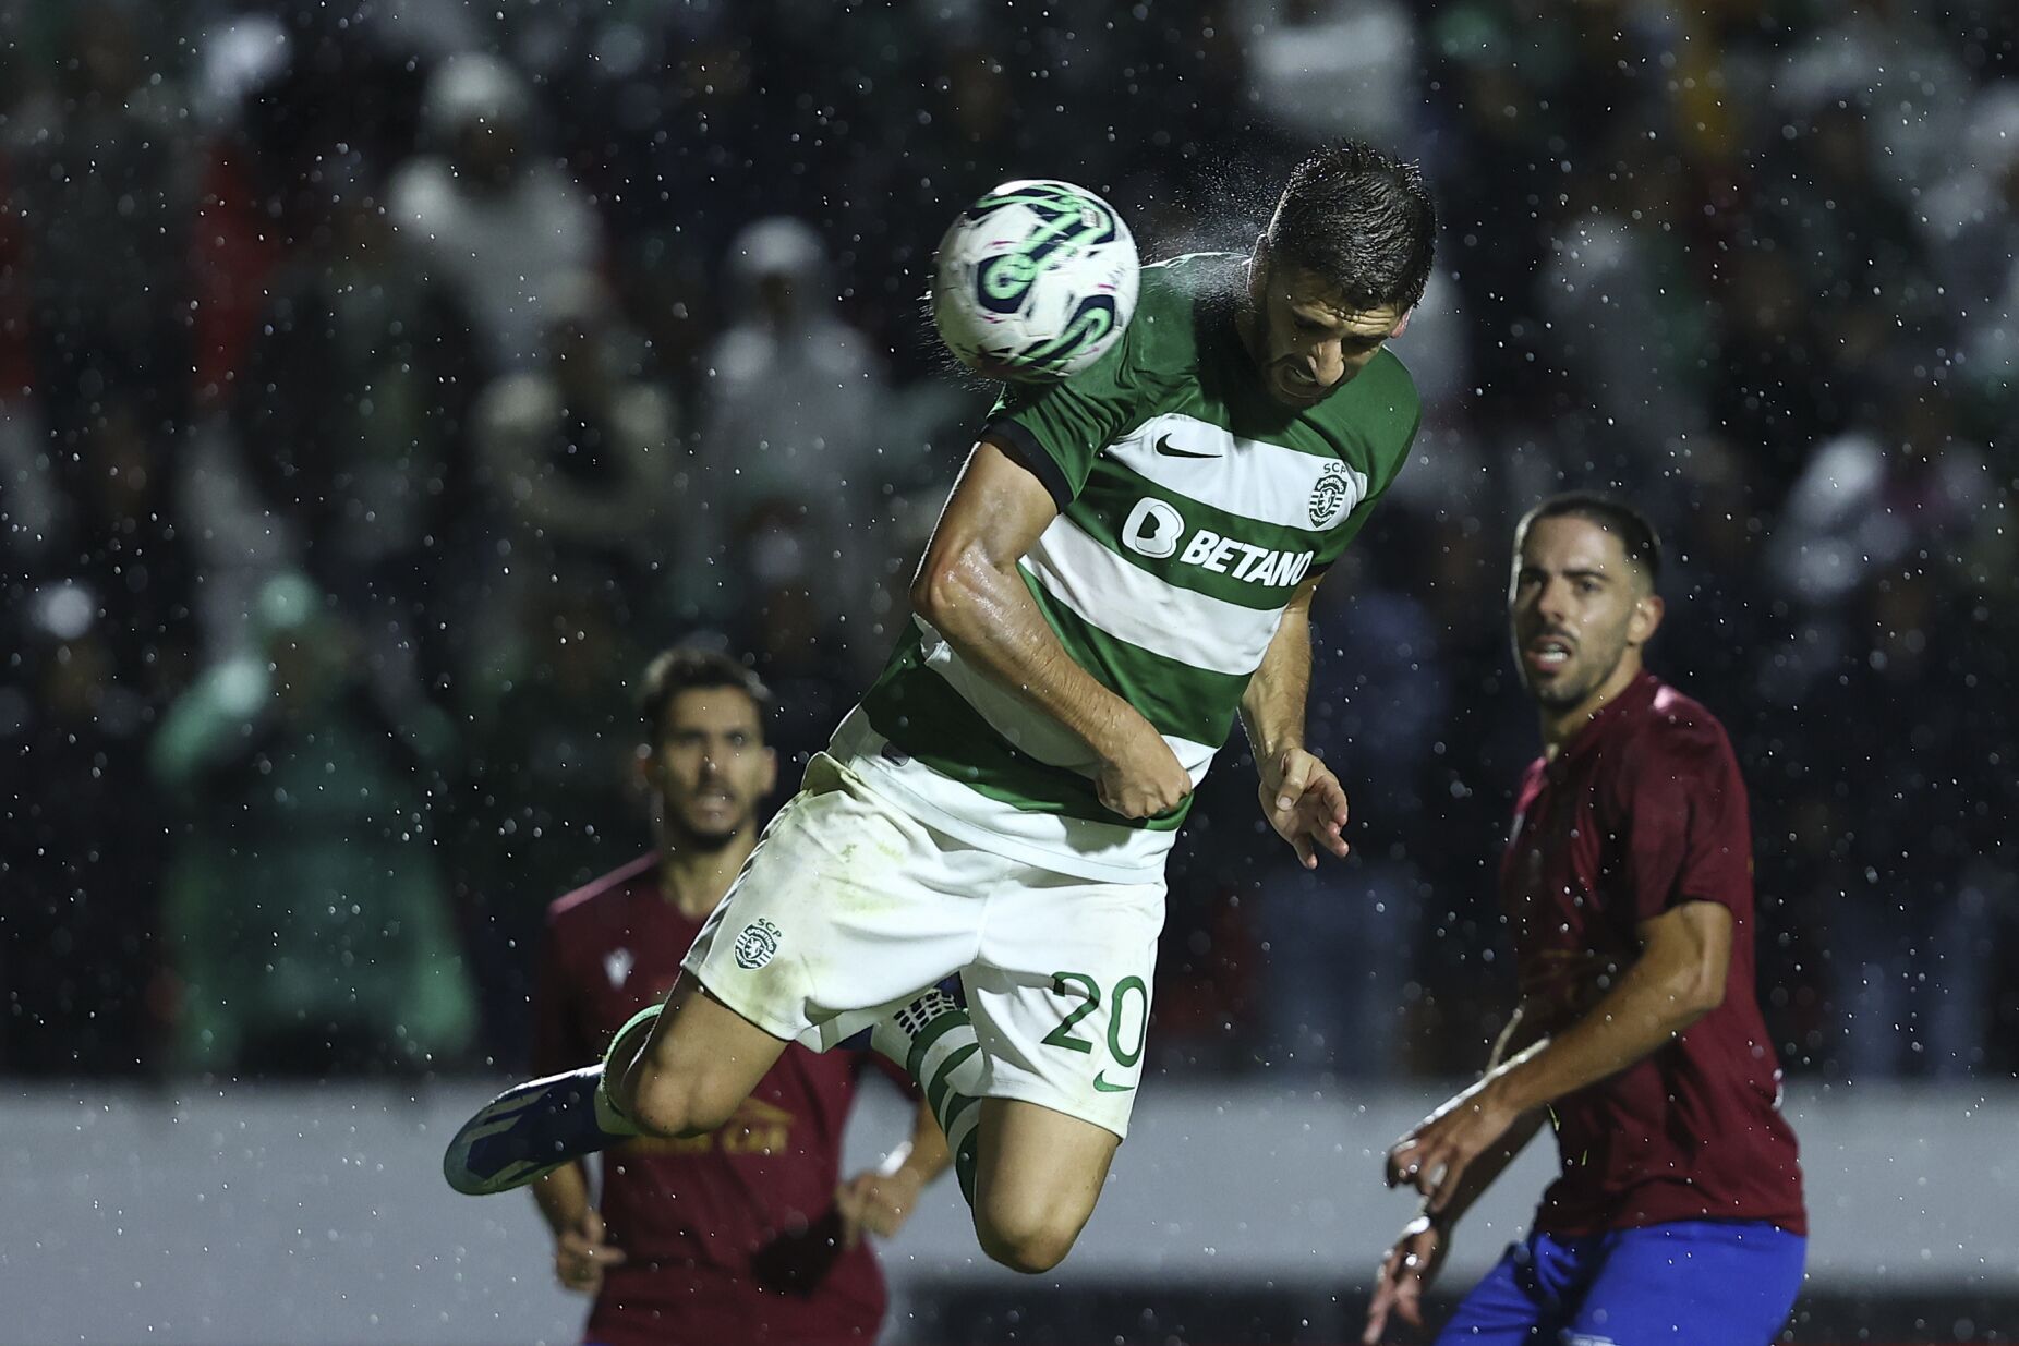
M 771 692 L 725 654 L 674 646 L 644 670 L 640 771 L 672 846 L 719 850 L 745 835 L 777 785 L 765 747 Z

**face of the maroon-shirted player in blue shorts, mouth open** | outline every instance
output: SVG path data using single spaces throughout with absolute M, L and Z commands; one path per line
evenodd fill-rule
M 1589 519 L 1536 519 L 1508 589 L 1514 664 L 1528 696 L 1571 710 L 1654 634 L 1662 599 L 1619 539 Z

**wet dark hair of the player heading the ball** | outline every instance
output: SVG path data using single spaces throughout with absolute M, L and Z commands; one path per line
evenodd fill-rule
M 1407 311 L 1429 285 L 1436 234 L 1423 170 L 1349 139 L 1290 174 L 1268 222 L 1268 252 L 1324 276 L 1359 307 Z

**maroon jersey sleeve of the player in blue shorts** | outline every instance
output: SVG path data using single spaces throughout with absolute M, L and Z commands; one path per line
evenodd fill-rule
M 1752 823 L 1746 787 L 1722 735 L 1637 745 L 1621 763 L 1623 892 L 1633 920 L 1684 902 L 1716 902 L 1752 916 Z

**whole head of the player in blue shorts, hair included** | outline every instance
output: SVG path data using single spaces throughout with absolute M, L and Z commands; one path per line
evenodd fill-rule
M 1551 496 L 1514 529 L 1508 624 L 1522 686 L 1545 710 L 1577 710 L 1639 672 L 1662 624 L 1662 541 L 1629 504 Z

